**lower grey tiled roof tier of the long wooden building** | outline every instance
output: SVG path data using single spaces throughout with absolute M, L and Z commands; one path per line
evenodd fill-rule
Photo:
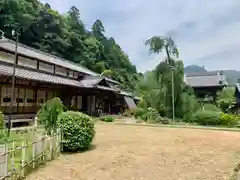
M 12 76 L 13 74 L 13 67 L 8 65 L 0 64 L 0 75 L 2 76 Z M 52 84 L 61 84 L 61 85 L 68 85 L 68 86 L 75 86 L 75 87 L 83 87 L 82 83 L 76 80 L 67 79 L 59 76 L 49 75 L 37 71 L 31 71 L 27 69 L 22 69 L 16 67 L 16 77 L 22 79 L 29 79 L 41 82 L 47 82 Z

